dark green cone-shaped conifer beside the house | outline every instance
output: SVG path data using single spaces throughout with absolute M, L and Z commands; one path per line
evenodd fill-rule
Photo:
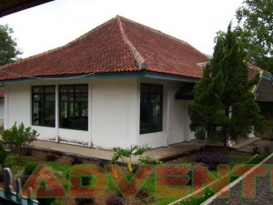
M 252 126 L 263 127 L 264 119 L 252 93 L 258 76 L 248 79 L 245 56 L 230 24 L 227 33 L 218 36 L 213 58 L 204 68 L 194 88 L 194 102 L 188 107 L 191 130 L 206 130 L 207 138 L 218 138 L 225 146 L 227 138 L 247 134 Z

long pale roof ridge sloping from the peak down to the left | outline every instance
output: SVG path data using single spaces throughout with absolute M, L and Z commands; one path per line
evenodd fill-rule
M 41 53 L 38 53 L 38 54 L 35 54 L 34 56 L 28 56 L 28 57 L 25 57 L 23 59 L 19 59 L 15 62 L 12 62 L 12 63 L 8 63 L 8 64 L 5 64 L 3 66 L 0 66 L 0 70 L 4 69 L 5 67 L 9 67 L 11 65 L 16 65 L 16 64 L 19 64 L 21 62 L 25 62 L 25 61 L 28 61 L 28 60 L 31 60 L 31 59 L 34 59 L 36 57 L 39 57 L 39 56 L 44 56 L 46 54 L 50 54 L 50 53 L 53 53 L 53 52 L 56 52 L 62 48 L 66 48 L 68 46 L 72 46 L 74 44 L 76 44 L 76 42 L 80 41 L 81 39 L 85 38 L 86 36 L 88 36 L 90 33 L 96 31 L 97 29 L 101 28 L 102 26 L 106 26 L 107 24 L 111 23 L 111 21 L 114 21 L 115 18 L 111 18 L 109 19 L 108 21 L 106 21 L 105 23 L 103 23 L 102 25 L 99 25 L 99 26 L 96 26 L 95 28 L 89 30 L 88 32 L 86 32 L 86 34 L 82 35 L 82 36 L 79 36 L 77 37 L 76 39 L 68 42 L 66 45 L 63 45 L 63 46 L 58 46 L 56 48 L 53 48 L 53 49 L 49 49 L 49 50 L 46 50 L 44 52 L 41 52 Z

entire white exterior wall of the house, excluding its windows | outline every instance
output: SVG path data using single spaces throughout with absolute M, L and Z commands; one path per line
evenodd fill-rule
M 163 130 L 139 134 L 140 83 L 163 85 Z M 88 131 L 58 127 L 58 85 L 88 84 Z M 188 101 L 176 100 L 181 83 L 147 78 L 43 81 L 5 87 L 5 128 L 23 122 L 31 126 L 31 87 L 56 85 L 56 128 L 32 126 L 39 139 L 101 149 L 132 144 L 166 147 L 194 138 L 187 116 Z

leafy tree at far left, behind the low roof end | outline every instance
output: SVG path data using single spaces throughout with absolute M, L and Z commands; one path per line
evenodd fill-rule
M 0 66 L 14 62 L 22 54 L 11 36 L 13 33 L 12 28 L 0 25 Z

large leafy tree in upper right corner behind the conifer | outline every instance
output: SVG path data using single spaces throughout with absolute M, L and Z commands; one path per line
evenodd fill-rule
M 273 0 L 245 0 L 236 13 L 248 61 L 273 71 Z

